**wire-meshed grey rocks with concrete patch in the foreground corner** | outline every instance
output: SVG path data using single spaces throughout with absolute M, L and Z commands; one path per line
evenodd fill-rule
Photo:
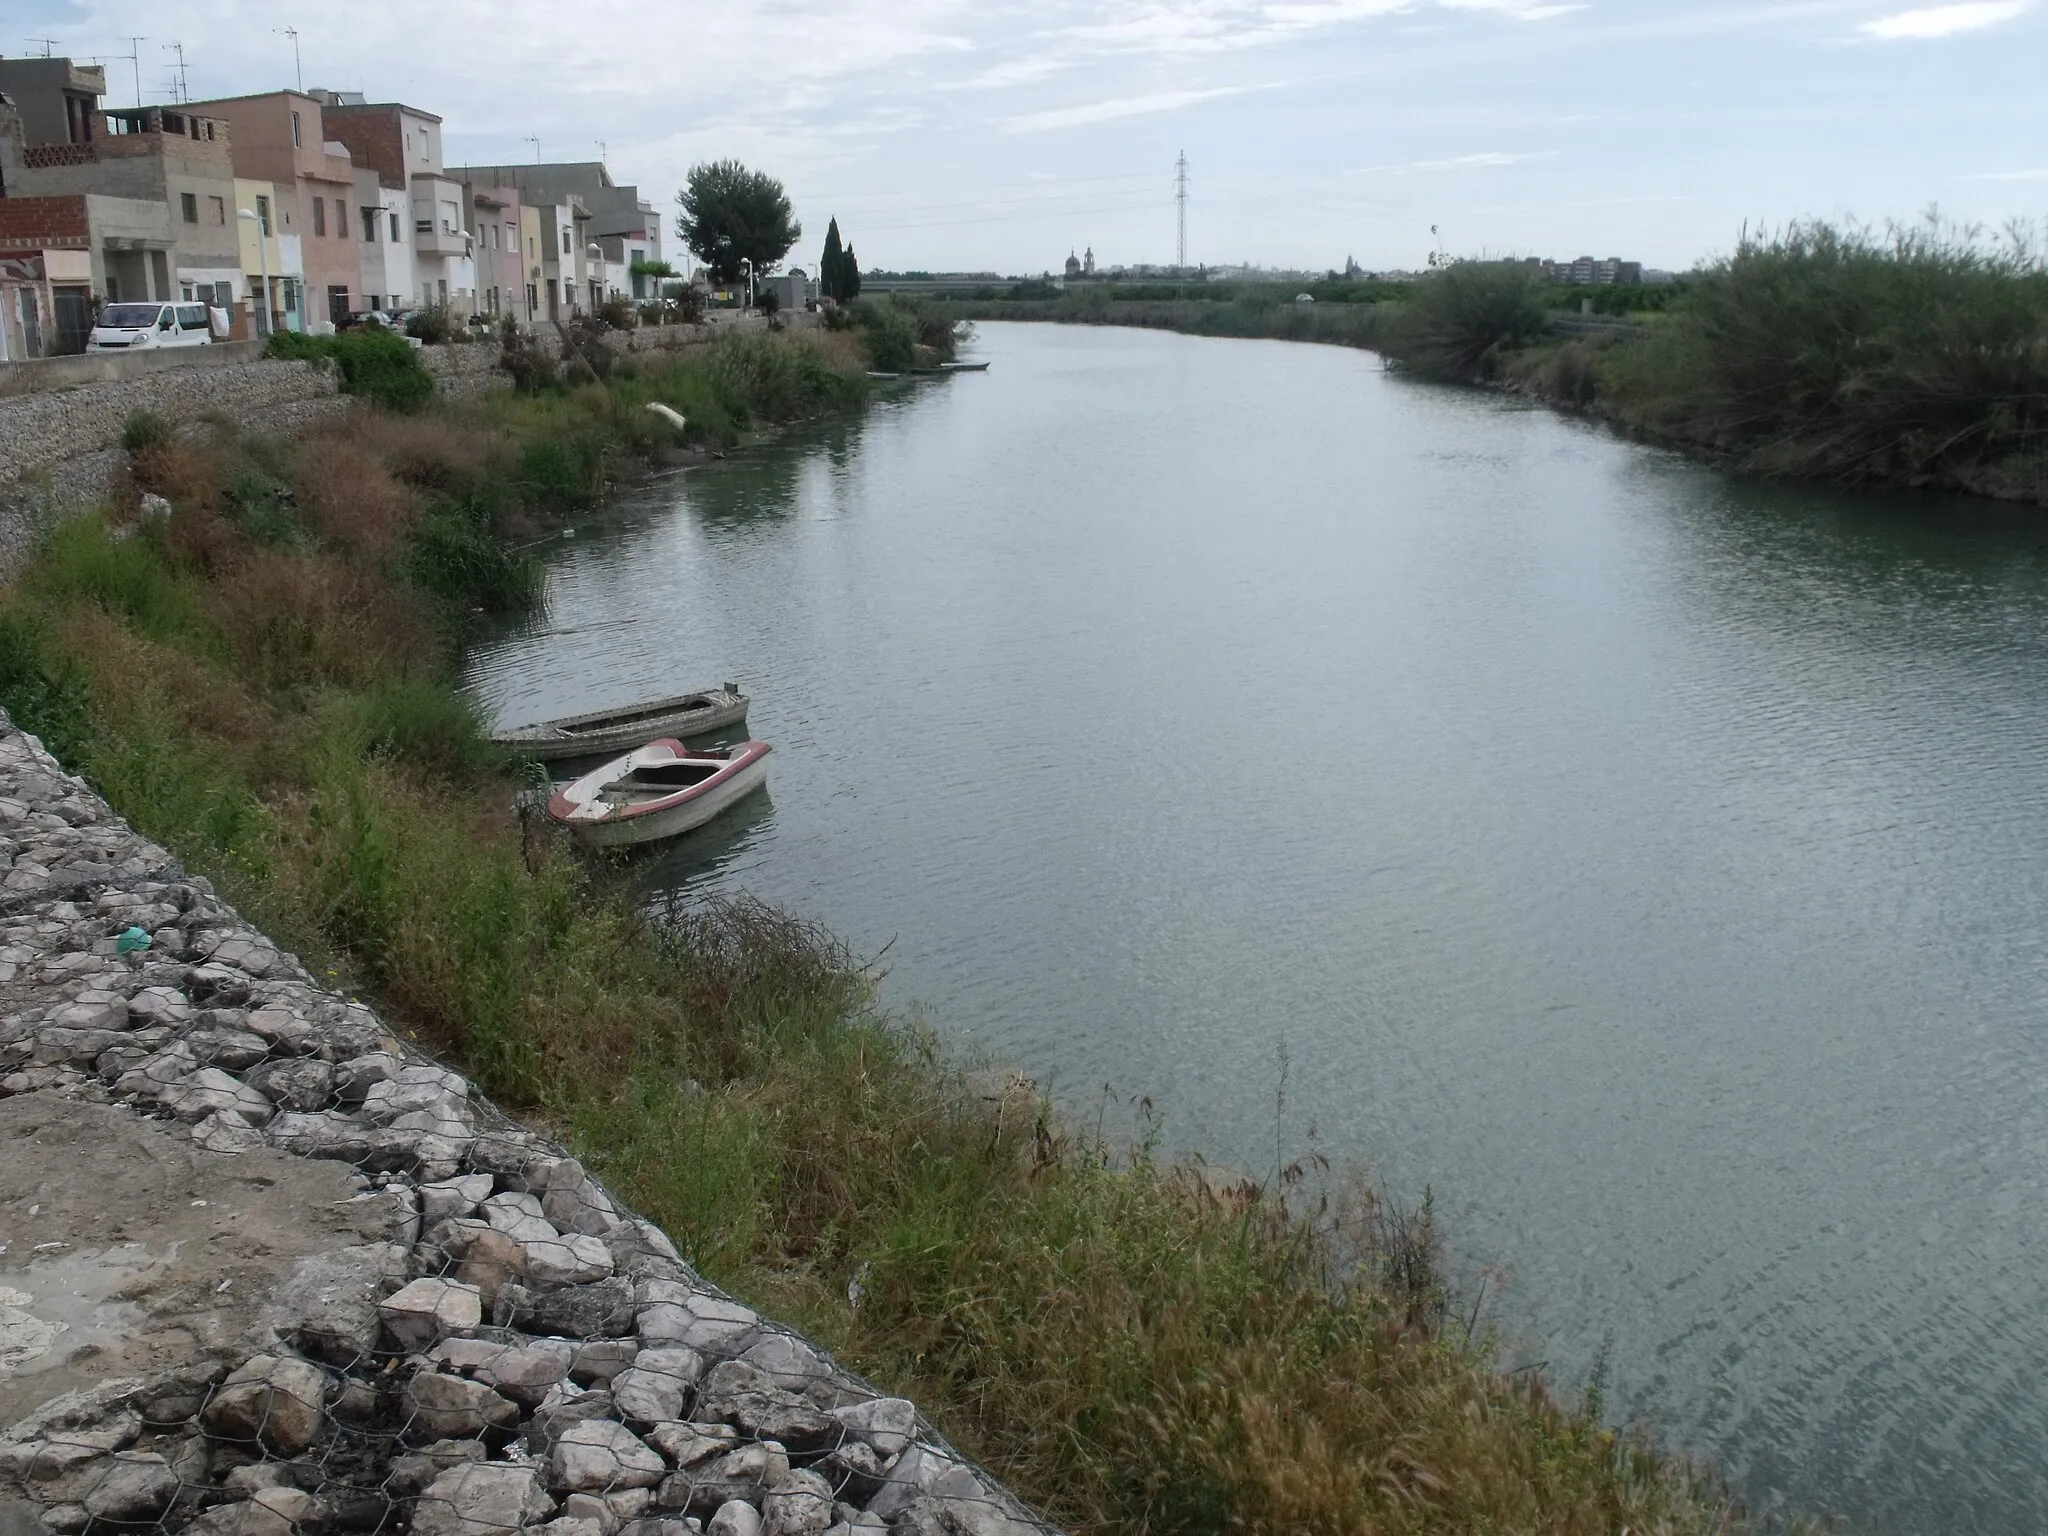
M 4 717 L 0 1419 L 8 1536 L 1047 1530 Z

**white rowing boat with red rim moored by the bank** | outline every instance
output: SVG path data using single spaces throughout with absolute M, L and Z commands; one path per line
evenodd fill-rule
M 547 819 L 600 848 L 659 842 L 700 827 L 768 782 L 768 743 L 690 750 L 649 741 L 547 801 Z

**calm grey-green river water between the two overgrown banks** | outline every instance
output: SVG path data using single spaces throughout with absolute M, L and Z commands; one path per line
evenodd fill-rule
M 477 692 L 737 678 L 770 793 L 649 885 L 893 940 L 1169 1147 L 1427 1186 L 1511 1364 L 1755 1509 L 2048 1528 L 2048 524 L 1364 352 L 971 354 L 592 516 Z

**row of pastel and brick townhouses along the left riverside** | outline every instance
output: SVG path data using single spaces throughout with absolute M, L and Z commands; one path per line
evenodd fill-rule
M 104 94 L 104 68 L 0 59 L 0 358 L 80 350 L 100 303 L 268 334 L 426 305 L 543 324 L 657 283 L 662 219 L 600 162 L 449 166 L 440 117 L 354 92 Z

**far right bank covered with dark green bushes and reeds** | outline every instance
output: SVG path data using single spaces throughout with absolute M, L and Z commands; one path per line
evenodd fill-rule
M 1663 287 L 1559 289 L 1522 262 L 1460 262 L 1364 301 L 1085 291 L 958 311 L 1366 346 L 1747 473 L 2048 504 L 2048 266 L 1925 225 L 1794 225 Z

